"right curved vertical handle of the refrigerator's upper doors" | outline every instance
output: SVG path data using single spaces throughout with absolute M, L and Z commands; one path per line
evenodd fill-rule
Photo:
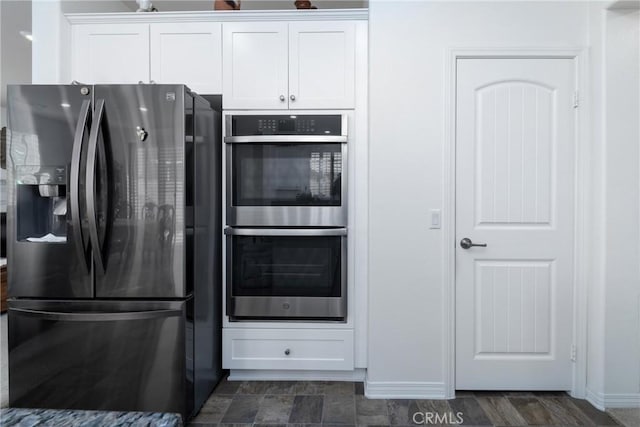
M 96 218 L 96 158 L 98 155 L 98 136 L 102 130 L 102 119 L 104 117 L 104 99 L 96 101 L 96 117 L 91 123 L 89 133 L 89 146 L 87 148 L 87 170 L 86 170 L 86 197 L 87 216 L 89 217 L 89 237 L 93 258 L 96 268 L 100 274 L 104 274 L 105 263 L 102 256 L 102 245 L 98 237 L 98 220 Z

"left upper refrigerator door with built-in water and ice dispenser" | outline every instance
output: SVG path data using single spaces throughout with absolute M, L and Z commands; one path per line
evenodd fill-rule
M 9 296 L 93 296 L 83 161 L 90 86 L 9 86 Z

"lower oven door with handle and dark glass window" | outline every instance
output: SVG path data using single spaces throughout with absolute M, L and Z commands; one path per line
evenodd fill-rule
M 347 317 L 347 229 L 227 228 L 232 320 Z

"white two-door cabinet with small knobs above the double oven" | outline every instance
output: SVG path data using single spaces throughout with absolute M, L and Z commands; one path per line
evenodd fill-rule
M 355 23 L 223 25 L 226 109 L 355 106 Z

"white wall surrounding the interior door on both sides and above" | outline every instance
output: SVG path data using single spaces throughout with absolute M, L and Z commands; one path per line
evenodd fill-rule
M 606 10 L 612 4 L 371 1 L 370 395 L 446 395 L 443 256 L 455 242 L 443 242 L 452 224 L 428 229 L 428 214 L 448 217 L 447 49 L 586 46 L 581 144 L 592 164 L 582 232 L 591 241 L 577 394 L 586 386 L 599 407 L 640 405 L 640 23 L 637 2 L 632 12 L 620 2 Z

